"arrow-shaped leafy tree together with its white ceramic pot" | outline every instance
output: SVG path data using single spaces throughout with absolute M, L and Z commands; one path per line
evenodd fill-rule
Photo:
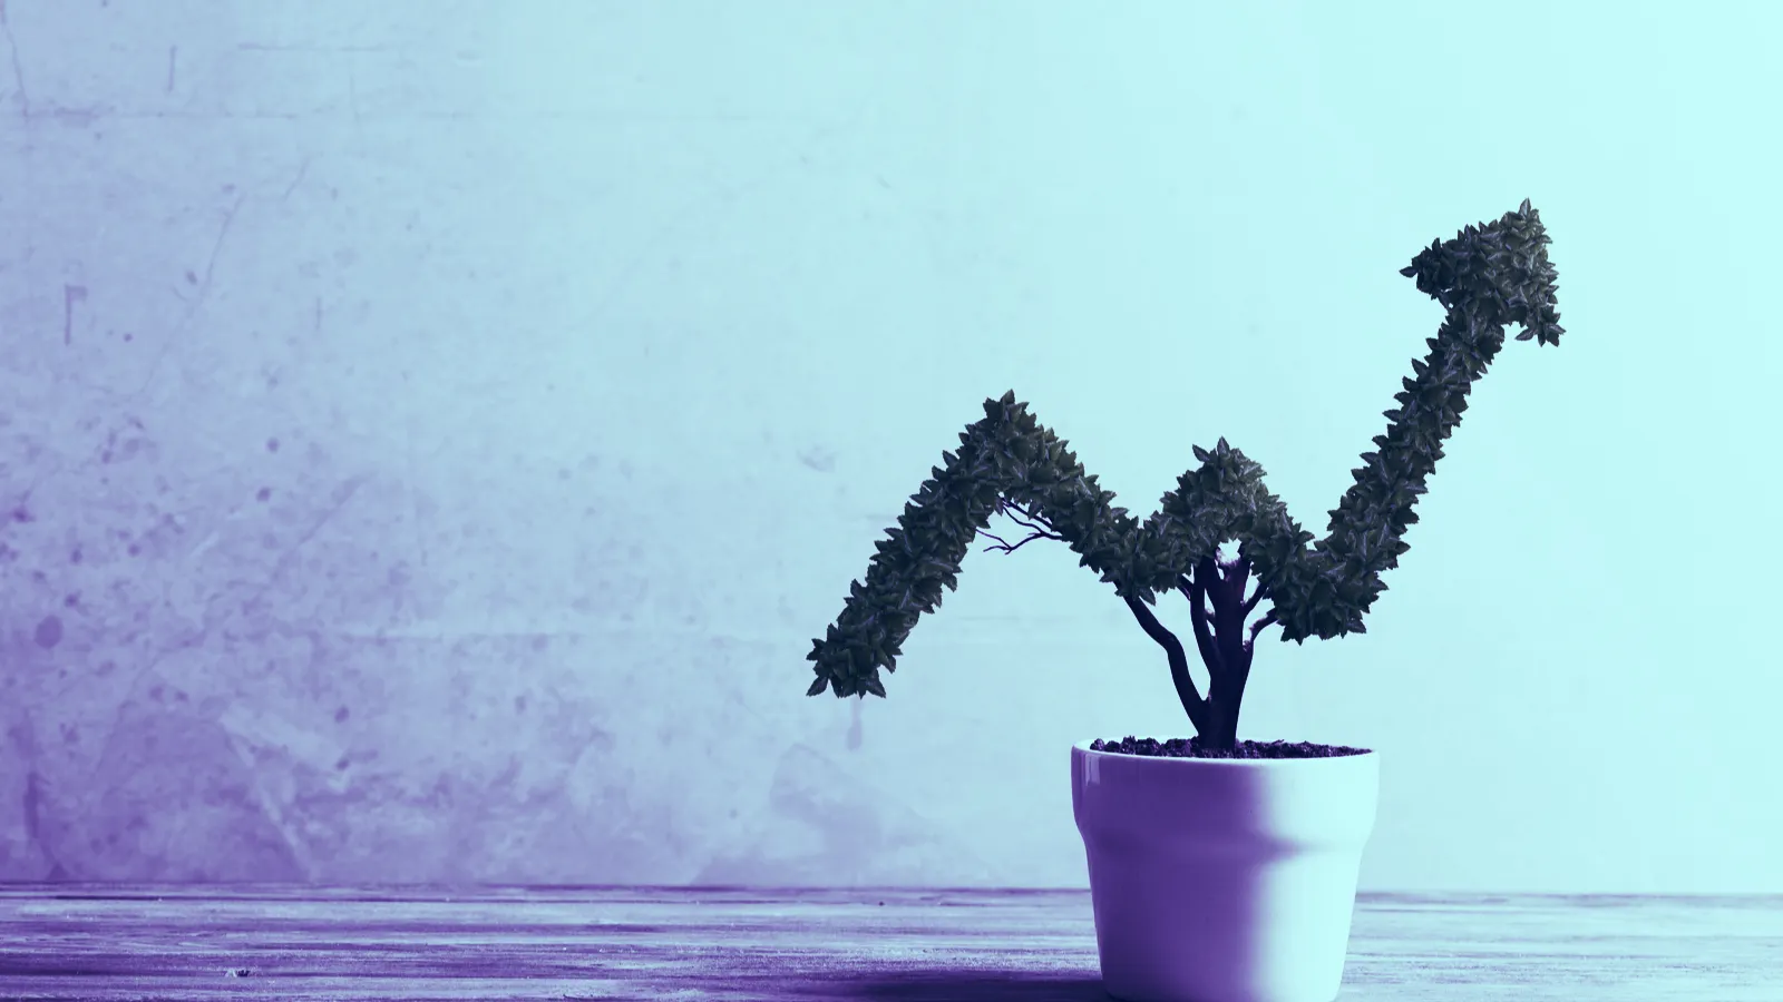
M 1385 590 L 1380 572 L 1409 547 L 1407 526 L 1442 440 L 1460 424 L 1471 383 L 1505 344 L 1558 344 L 1548 234 L 1528 200 L 1496 223 L 1432 242 L 1401 275 L 1446 317 L 1412 362 L 1385 412 L 1378 451 L 1362 453 L 1355 485 L 1312 540 L 1262 483 L 1262 467 L 1220 439 L 1195 448 L 1196 469 L 1134 521 L 1097 487 L 1066 442 L 1015 392 L 943 453 L 943 465 L 877 542 L 867 579 L 808 660 L 838 697 L 884 695 L 918 615 L 957 587 L 959 562 L 997 513 L 1036 538 L 1064 542 L 1080 565 L 1114 585 L 1164 649 L 1195 736 L 1077 742 L 1072 802 L 1089 865 L 1104 988 L 1134 1002 L 1328 1002 L 1343 981 L 1362 847 L 1375 825 L 1378 754 L 1368 749 L 1241 742 L 1237 713 L 1257 635 L 1328 640 L 1364 633 L 1362 613 Z M 1223 560 L 1220 546 L 1237 542 Z M 1311 546 L 1309 546 L 1311 544 Z M 1255 578 L 1255 590 L 1246 585 Z M 1204 695 L 1184 644 L 1152 613 L 1159 594 L 1189 601 Z M 1268 603 L 1264 615 L 1246 619 Z

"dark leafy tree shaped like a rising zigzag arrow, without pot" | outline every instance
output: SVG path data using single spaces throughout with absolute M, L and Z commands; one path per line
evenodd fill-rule
M 1405 530 L 1425 478 L 1442 458 L 1442 440 L 1460 424 L 1473 382 L 1505 344 L 1560 344 L 1555 269 L 1548 234 L 1528 200 L 1489 225 L 1467 226 L 1432 242 L 1400 273 L 1439 301 L 1448 316 L 1412 360 L 1412 376 L 1385 412 L 1378 451 L 1362 453 L 1355 485 L 1330 512 L 1328 535 L 1312 540 L 1262 483 L 1262 467 L 1225 439 L 1195 446 L 1198 467 L 1177 480 L 1157 513 L 1134 521 L 1097 487 L 1066 442 L 1041 426 L 1015 392 L 984 401 L 984 417 L 941 455 L 933 478 L 911 496 L 897 526 L 875 544 L 867 581 L 852 581 L 842 615 L 813 640 L 817 679 L 838 697 L 886 694 L 879 669 L 895 670 L 899 647 L 922 613 L 941 604 L 941 588 L 959 583 L 959 562 L 984 533 L 988 549 L 1013 553 L 1036 538 L 1064 542 L 1079 563 L 1114 585 L 1139 628 L 1164 649 L 1170 678 L 1204 751 L 1232 751 L 1257 635 L 1280 626 L 1282 640 L 1328 640 L 1366 633 L 1362 615 L 1387 588 L 1380 572 L 1409 547 Z M 1011 515 L 1029 535 L 1016 544 L 986 533 L 990 519 Z M 1237 540 L 1237 558 L 1220 546 Z M 1311 546 L 1309 546 L 1311 544 Z M 1245 594 L 1250 581 L 1255 590 Z M 1207 694 L 1189 676 L 1182 642 L 1152 612 L 1157 595 L 1189 601 L 1195 649 L 1207 667 Z M 1246 628 L 1259 603 L 1262 617 Z

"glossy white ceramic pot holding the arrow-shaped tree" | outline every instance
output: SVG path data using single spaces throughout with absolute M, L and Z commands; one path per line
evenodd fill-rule
M 1125 1002 L 1330 1002 L 1380 754 L 1146 758 L 1072 747 L 1102 986 Z

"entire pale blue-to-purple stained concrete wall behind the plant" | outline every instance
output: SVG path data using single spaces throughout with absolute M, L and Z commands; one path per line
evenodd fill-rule
M 1778 16 L 1216 7 L 0 5 L 0 879 L 1080 884 L 1163 656 L 1036 544 L 802 699 L 872 542 L 1009 387 L 1323 531 L 1530 196 L 1565 341 L 1241 733 L 1368 888 L 1783 890 Z

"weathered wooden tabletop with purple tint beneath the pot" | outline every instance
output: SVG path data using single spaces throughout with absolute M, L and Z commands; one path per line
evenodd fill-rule
M 1100 1000 L 1088 891 L 0 884 L 0 998 Z M 1343 1000 L 1783 1002 L 1783 897 L 1362 895 Z

